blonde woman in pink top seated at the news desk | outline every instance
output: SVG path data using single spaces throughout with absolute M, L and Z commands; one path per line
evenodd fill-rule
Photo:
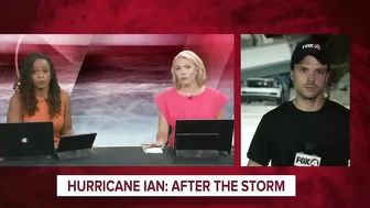
M 155 97 L 160 109 L 156 142 L 152 146 L 174 146 L 176 120 L 224 119 L 228 97 L 221 91 L 205 87 L 207 79 L 203 61 L 192 51 L 183 51 L 173 61 L 172 79 L 175 87 Z M 170 125 L 172 133 L 168 138 Z

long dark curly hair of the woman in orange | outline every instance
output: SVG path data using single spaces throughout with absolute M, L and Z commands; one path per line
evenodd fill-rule
M 20 67 L 20 76 L 15 81 L 13 89 L 20 94 L 23 111 L 28 116 L 34 116 L 37 108 L 37 99 L 35 97 L 35 87 L 32 83 L 33 64 L 37 59 L 45 59 L 50 66 L 51 80 L 48 85 L 48 114 L 51 118 L 57 117 L 62 112 L 61 87 L 58 85 L 55 68 L 51 58 L 42 53 L 32 53 L 28 55 Z

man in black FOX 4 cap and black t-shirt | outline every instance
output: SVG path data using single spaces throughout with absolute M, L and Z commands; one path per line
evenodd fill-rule
M 248 166 L 347 166 L 349 109 L 324 89 L 330 58 L 323 45 L 300 43 L 291 59 L 296 98 L 265 113 L 248 151 Z

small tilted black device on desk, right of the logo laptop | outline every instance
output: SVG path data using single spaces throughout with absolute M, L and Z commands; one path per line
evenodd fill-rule
M 59 160 L 88 156 L 92 153 L 92 144 L 97 133 L 65 135 L 61 138 L 55 151 Z

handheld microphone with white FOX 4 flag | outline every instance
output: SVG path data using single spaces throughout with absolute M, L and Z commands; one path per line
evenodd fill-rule
M 303 152 L 297 152 L 294 158 L 294 166 L 319 166 L 322 157 L 315 155 L 315 144 L 305 143 Z

